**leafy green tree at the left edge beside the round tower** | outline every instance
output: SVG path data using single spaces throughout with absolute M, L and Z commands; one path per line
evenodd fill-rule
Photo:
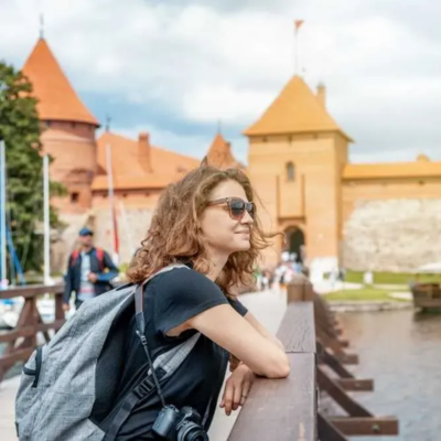
M 7 224 L 24 270 L 41 271 L 43 237 L 36 225 L 43 219 L 43 160 L 41 123 L 32 85 L 13 68 L 0 62 L 0 139 L 7 158 Z M 51 194 L 63 186 L 51 182 Z M 51 225 L 61 223 L 51 207 Z

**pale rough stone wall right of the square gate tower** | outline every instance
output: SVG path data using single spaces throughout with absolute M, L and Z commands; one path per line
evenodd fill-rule
M 441 260 L 441 198 L 357 201 L 344 226 L 343 265 L 409 271 Z

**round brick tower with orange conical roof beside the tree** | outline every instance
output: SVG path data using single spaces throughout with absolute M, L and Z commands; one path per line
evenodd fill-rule
M 54 159 L 51 179 L 67 187 L 67 197 L 53 198 L 62 214 L 84 213 L 92 204 L 96 172 L 96 118 L 80 101 L 46 41 L 41 37 L 24 63 L 23 74 L 37 98 L 43 126 L 41 141 Z

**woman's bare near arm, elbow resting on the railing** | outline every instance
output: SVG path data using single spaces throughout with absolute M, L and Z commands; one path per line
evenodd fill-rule
M 247 314 L 248 315 L 248 314 Z M 257 321 L 256 321 L 257 322 Z M 288 357 L 229 304 L 211 308 L 190 319 L 184 329 L 195 329 L 243 361 L 254 373 L 284 378 L 290 373 Z M 263 329 L 263 326 L 261 326 Z M 176 335 L 178 330 L 171 335 Z

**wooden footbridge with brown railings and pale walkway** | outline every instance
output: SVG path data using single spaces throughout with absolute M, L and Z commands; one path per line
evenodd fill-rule
M 0 381 L 17 362 L 24 362 L 37 344 L 37 334 L 50 341 L 64 323 L 63 286 L 34 286 L 0 291 L 0 299 L 22 297 L 24 304 L 15 329 L 0 334 L 7 344 L 0 356 Z M 43 322 L 37 299 L 51 293 L 54 320 Z M 258 378 L 245 406 L 226 417 L 218 411 L 211 431 L 212 441 L 347 441 L 355 435 L 398 434 L 394 417 L 376 417 L 362 406 L 353 394 L 373 390 L 373 379 L 356 378 L 347 365 L 358 357 L 347 351 L 349 342 L 327 304 L 318 295 L 308 279 L 299 277 L 287 292 L 266 291 L 241 295 L 243 303 L 270 331 L 277 331 L 291 364 L 287 379 Z M 17 440 L 14 397 L 19 378 L 0 385 L 0 439 Z M 325 412 L 321 401 L 330 400 L 344 416 Z

